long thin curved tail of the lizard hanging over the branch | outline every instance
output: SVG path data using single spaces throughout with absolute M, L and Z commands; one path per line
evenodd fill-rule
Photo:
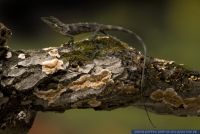
M 144 62 L 143 62 L 143 69 L 142 69 L 142 77 L 141 77 L 141 83 L 140 83 L 140 92 L 141 92 L 141 98 L 143 100 L 143 86 L 144 86 L 144 77 L 145 77 L 145 66 L 146 66 L 146 58 L 147 58 L 147 48 L 146 48 L 146 44 L 144 43 L 144 41 L 142 40 L 142 38 L 136 34 L 135 32 L 129 30 L 129 29 L 126 29 L 126 28 L 123 28 L 123 27 L 120 27 L 120 26 L 116 26 L 116 27 L 112 27 L 112 26 L 108 26 L 108 30 L 109 29 L 113 29 L 113 30 L 117 30 L 117 31 L 124 31 L 126 33 L 129 33 L 131 35 L 133 35 L 139 42 L 140 44 L 142 45 L 143 47 L 143 51 L 144 51 Z M 150 115 L 149 115 L 149 112 L 147 110 L 147 107 L 146 107 L 146 104 L 144 103 L 144 109 L 146 111 L 146 114 L 147 114 L 147 117 L 148 117 L 148 120 L 151 124 L 151 126 L 153 128 L 156 128 L 156 126 L 153 124 L 153 122 L 151 121 L 151 118 L 150 118 Z

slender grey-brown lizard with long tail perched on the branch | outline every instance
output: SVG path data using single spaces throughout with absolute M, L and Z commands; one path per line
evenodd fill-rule
M 68 36 L 73 41 L 73 36 L 81 33 L 86 32 L 94 32 L 96 34 L 97 32 L 104 33 L 105 31 L 122 31 L 128 34 L 133 35 L 137 38 L 137 40 L 140 42 L 140 44 L 143 47 L 144 50 L 144 61 L 143 61 L 143 69 L 142 69 L 142 77 L 141 77 L 141 97 L 143 97 L 143 82 L 144 82 L 144 75 L 145 75 L 145 64 L 146 64 L 146 56 L 147 56 L 147 49 L 144 41 L 138 36 L 135 32 L 126 29 L 121 26 L 114 26 L 114 25 L 104 25 L 99 23 L 72 23 L 72 24 L 65 24 L 61 22 L 59 19 L 50 16 L 50 17 L 41 17 L 42 21 L 44 21 L 46 24 L 48 24 L 50 27 L 54 28 L 57 32 L 59 32 L 62 35 Z M 150 124 L 155 128 L 155 125 L 150 119 L 148 110 L 146 108 L 146 105 L 144 104 L 144 108 L 148 117 L 148 120 Z

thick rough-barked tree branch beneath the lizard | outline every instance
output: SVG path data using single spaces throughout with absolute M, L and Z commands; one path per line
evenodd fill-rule
M 114 37 L 41 50 L 15 51 L 4 45 L 0 49 L 0 133 L 27 133 L 37 111 L 143 108 L 145 103 L 158 114 L 200 115 L 199 72 L 147 57 L 142 97 L 144 57 Z

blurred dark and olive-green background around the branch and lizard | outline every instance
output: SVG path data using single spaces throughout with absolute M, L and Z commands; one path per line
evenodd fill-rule
M 45 25 L 41 16 L 66 23 L 98 22 L 134 30 L 147 44 L 148 55 L 200 69 L 199 0 L 40 0 L 0 1 L 0 21 L 13 31 L 15 49 L 58 46 L 68 39 Z M 113 33 L 141 49 L 137 40 Z M 156 129 L 200 129 L 199 117 L 150 113 Z M 144 110 L 134 107 L 113 111 L 68 110 L 63 114 L 39 113 L 30 134 L 130 134 L 131 129 L 152 129 Z

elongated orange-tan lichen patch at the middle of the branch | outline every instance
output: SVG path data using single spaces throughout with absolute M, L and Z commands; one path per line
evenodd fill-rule
M 101 89 L 103 86 L 113 83 L 111 79 L 112 73 L 103 69 L 97 74 L 86 74 L 81 76 L 78 80 L 73 81 L 69 88 L 75 91 L 87 89 Z

